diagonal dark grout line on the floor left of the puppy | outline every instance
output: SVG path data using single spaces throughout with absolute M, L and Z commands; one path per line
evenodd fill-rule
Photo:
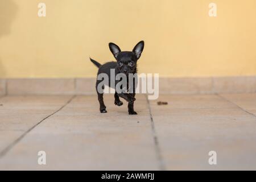
M 51 117 L 52 115 L 56 114 L 57 112 L 59 112 L 61 109 L 63 109 L 65 106 L 67 106 L 74 98 L 75 96 L 72 96 L 63 106 L 61 106 L 58 110 L 54 111 L 52 114 L 48 115 L 46 118 L 42 119 L 41 121 L 39 121 L 38 123 L 36 123 L 34 126 L 32 126 L 30 129 L 28 129 L 25 133 L 23 133 L 22 135 L 20 135 L 19 138 L 17 138 L 16 140 L 14 140 L 13 143 L 9 144 L 9 146 L 7 146 L 5 149 L 3 149 L 0 152 L 0 158 L 2 158 L 3 156 L 5 156 L 7 154 L 7 152 L 9 152 L 11 150 L 11 148 L 13 148 L 15 146 L 15 144 L 17 144 L 20 140 L 22 140 L 28 133 L 30 133 L 30 131 L 32 131 L 36 126 L 38 126 L 40 123 L 42 123 L 43 121 L 45 121 L 47 118 Z

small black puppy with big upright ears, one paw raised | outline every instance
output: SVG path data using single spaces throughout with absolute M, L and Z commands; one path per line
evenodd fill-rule
M 114 43 L 109 43 L 109 48 L 110 51 L 113 53 L 115 59 L 117 62 L 109 62 L 101 65 L 97 61 L 90 59 L 93 64 L 95 64 L 99 69 L 98 69 L 98 75 L 100 73 L 106 73 L 109 77 L 109 86 L 113 87 L 113 85 L 117 85 L 119 81 L 115 80 L 115 78 L 110 78 L 110 69 L 114 69 L 115 71 L 115 76 L 118 73 L 123 73 L 127 77 L 127 88 L 129 85 L 129 73 L 135 74 L 137 73 L 137 60 L 139 57 L 141 57 L 141 53 L 144 48 L 144 42 L 141 41 L 139 42 L 133 49 L 133 51 L 121 51 L 121 49 L 115 45 Z M 112 79 L 112 80 L 110 80 Z M 113 80 L 114 79 L 114 80 Z M 135 79 L 135 78 L 133 78 Z M 114 84 L 111 85 L 110 82 L 113 82 Z M 121 81 L 121 80 L 120 80 Z M 98 101 L 100 102 L 100 111 L 101 113 L 106 113 L 106 106 L 103 101 L 103 93 L 98 92 L 98 84 L 100 84 L 101 80 L 96 81 L 96 90 L 98 94 Z M 134 111 L 134 101 L 135 101 L 135 80 L 133 80 L 133 93 L 118 93 L 117 90 L 115 90 L 115 102 L 114 104 L 117 106 L 123 105 L 123 102 L 119 100 L 119 97 L 125 99 L 128 102 L 128 111 L 129 114 L 137 114 Z M 103 86 L 104 87 L 104 86 Z M 104 88 L 102 88 L 104 89 Z M 115 88 L 114 88 L 115 89 Z

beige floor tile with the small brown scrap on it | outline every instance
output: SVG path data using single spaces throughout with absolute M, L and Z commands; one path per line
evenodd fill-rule
M 256 169 L 256 117 L 218 96 L 161 96 L 151 101 L 166 169 Z M 217 165 L 209 165 L 209 151 Z

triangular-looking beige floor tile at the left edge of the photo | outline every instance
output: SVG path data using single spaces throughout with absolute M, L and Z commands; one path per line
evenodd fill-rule
M 0 152 L 71 96 L 7 96 L 0 98 Z

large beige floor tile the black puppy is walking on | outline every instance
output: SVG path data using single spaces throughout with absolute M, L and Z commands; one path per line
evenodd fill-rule
M 101 114 L 96 96 L 77 96 L 70 104 L 26 135 L 1 160 L 4 169 L 159 169 L 146 97 L 137 96 L 135 110 L 114 105 L 105 96 Z M 38 151 L 47 165 L 39 166 Z

